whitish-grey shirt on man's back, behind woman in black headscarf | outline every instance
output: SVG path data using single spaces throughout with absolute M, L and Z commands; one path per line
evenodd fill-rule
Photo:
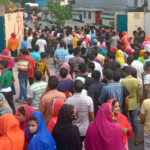
M 66 103 L 75 106 L 77 109 L 78 118 L 73 123 L 79 127 L 80 136 L 85 136 L 90 123 L 89 112 L 94 111 L 92 99 L 82 93 L 75 93 L 67 99 Z

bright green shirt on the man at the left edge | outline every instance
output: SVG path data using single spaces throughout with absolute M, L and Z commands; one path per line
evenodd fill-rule
M 11 83 L 13 79 L 14 76 L 12 72 L 9 70 L 4 70 L 0 76 L 0 85 L 2 86 L 2 88 L 9 88 L 11 87 Z

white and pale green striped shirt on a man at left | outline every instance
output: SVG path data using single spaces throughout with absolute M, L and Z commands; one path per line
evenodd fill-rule
M 43 81 L 34 82 L 31 85 L 28 97 L 32 99 L 32 108 L 38 110 L 40 97 L 43 95 L 46 87 L 47 83 Z

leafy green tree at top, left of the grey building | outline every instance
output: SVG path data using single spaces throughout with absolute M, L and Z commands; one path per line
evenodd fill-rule
M 72 13 L 71 6 L 61 6 L 58 0 L 47 0 L 47 7 L 49 12 L 54 15 L 57 24 L 64 24 Z

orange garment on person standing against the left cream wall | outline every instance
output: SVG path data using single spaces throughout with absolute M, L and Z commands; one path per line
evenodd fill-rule
M 19 40 L 17 38 L 10 38 L 8 40 L 7 49 L 15 51 L 18 48 L 19 44 L 20 43 L 19 43 Z

